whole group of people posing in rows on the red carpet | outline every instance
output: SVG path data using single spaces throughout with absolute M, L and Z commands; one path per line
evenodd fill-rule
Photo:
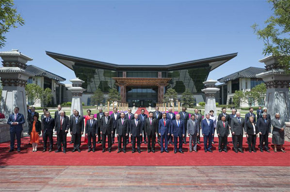
M 9 152 L 14 151 L 15 135 L 17 151 L 20 152 L 22 124 L 25 123 L 25 118 L 18 112 L 19 108 L 15 107 L 14 113 L 9 116 L 7 121 L 10 124 L 11 135 Z M 148 116 L 144 109 L 141 110 L 141 114 L 132 114 L 131 109 L 128 109 L 128 113 L 125 114 L 124 112 L 118 113 L 115 107 L 111 116 L 109 116 L 109 112 L 103 112 L 100 109 L 97 113 L 97 119 L 94 118 L 94 114 L 91 114 L 91 110 L 87 110 L 88 115 L 84 118 L 75 109 L 73 115 L 68 118 L 60 105 L 58 110 L 55 111 L 54 118 L 51 117 L 48 109 L 45 108 L 43 112 L 40 121 L 38 120 L 39 114 L 35 112 L 35 107 L 31 109 L 28 107 L 28 134 L 30 135 L 33 152 L 37 151 L 41 133 L 44 144 L 43 152 L 47 151 L 48 138 L 48 151 L 53 150 L 53 130 L 57 134 L 58 149 L 55 152 L 63 153 L 66 153 L 66 135 L 68 132 L 72 135 L 71 143 L 74 144 L 72 152 L 81 152 L 81 135 L 83 133 L 87 138 L 88 152 L 96 151 L 97 136 L 98 143 L 102 143 L 102 152 L 106 151 L 106 144 L 108 144 L 108 151 L 111 152 L 115 134 L 118 139 L 118 153 L 126 153 L 129 135 L 131 137 L 132 153 L 136 152 L 136 142 L 137 151 L 141 153 L 140 146 L 143 139 L 144 143 L 147 144 L 147 152 L 155 153 L 156 135 L 158 135 L 161 153 L 169 152 L 169 144 L 174 145 L 174 153 L 177 153 L 177 151 L 183 153 L 182 145 L 186 144 L 187 135 L 189 136 L 189 151 L 197 152 L 197 144 L 200 144 L 200 130 L 204 137 L 205 152 L 212 152 L 211 147 L 215 130 L 219 138 L 219 152 L 227 152 L 229 132 L 232 134 L 233 150 L 236 153 L 243 153 L 243 134 L 246 135 L 249 152 L 256 152 L 255 146 L 258 135 L 260 151 L 270 152 L 268 136 L 271 134 L 271 125 L 273 126 L 274 152 L 277 152 L 277 145 L 280 146 L 282 152 L 285 152 L 283 150 L 285 122 L 280 119 L 278 113 L 271 119 L 270 115 L 267 114 L 267 108 L 262 110 L 261 107 L 257 110 L 257 116 L 253 113 L 253 108 L 250 107 L 245 118 L 242 118 L 241 113 L 235 109 L 232 110 L 232 114 L 226 114 L 226 108 L 223 108 L 218 119 L 213 115 L 213 110 L 210 110 L 210 113 L 206 114 L 203 119 L 202 115 L 198 113 L 198 109 L 195 109 L 194 114 L 190 115 L 186 112 L 186 107 L 182 107 L 182 111 L 178 114 L 173 113 L 171 108 L 168 109 L 168 113 L 162 113 L 159 111 L 159 107 L 156 107 L 155 111 L 149 112 Z M 106 142 L 107 138 L 108 142 Z M 177 140 L 179 143 L 177 143 Z

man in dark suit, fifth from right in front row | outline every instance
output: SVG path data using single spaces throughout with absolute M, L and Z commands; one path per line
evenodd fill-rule
M 227 136 L 229 135 L 229 124 L 226 121 L 225 116 L 223 116 L 222 119 L 216 123 L 216 133 L 219 136 L 219 152 L 227 152 L 226 144 Z

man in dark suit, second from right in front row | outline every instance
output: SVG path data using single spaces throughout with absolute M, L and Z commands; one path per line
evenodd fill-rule
M 257 127 L 260 135 L 260 151 L 263 152 L 263 143 L 265 142 L 265 151 L 269 151 L 268 136 L 271 134 L 271 121 L 267 119 L 267 113 L 263 113 L 263 118 L 258 118 Z

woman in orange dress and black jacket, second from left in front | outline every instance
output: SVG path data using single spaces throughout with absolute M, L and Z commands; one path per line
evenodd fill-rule
M 30 135 L 30 143 L 32 144 L 33 148 L 32 152 L 37 151 L 40 133 L 41 133 L 41 122 L 40 120 L 38 120 L 38 116 L 34 115 L 28 130 L 28 134 Z

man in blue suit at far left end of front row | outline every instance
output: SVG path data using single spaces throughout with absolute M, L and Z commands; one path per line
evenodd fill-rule
M 22 114 L 18 113 L 19 108 L 14 108 L 14 114 L 10 115 L 7 123 L 10 125 L 10 150 L 9 152 L 14 151 L 15 144 L 15 135 L 17 138 L 17 151 L 20 152 L 21 144 L 21 133 L 22 133 L 22 124 L 25 123 L 25 118 Z

